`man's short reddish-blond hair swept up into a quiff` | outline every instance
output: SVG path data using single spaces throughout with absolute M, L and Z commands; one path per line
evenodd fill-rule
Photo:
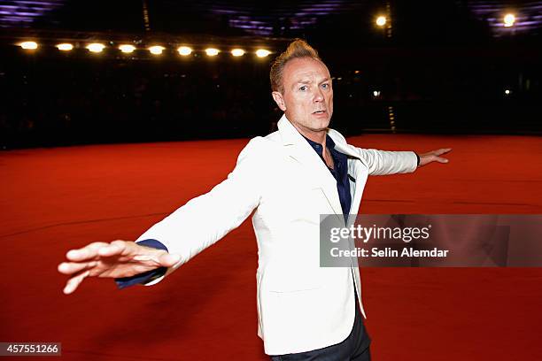
M 290 42 L 288 48 L 281 55 L 275 58 L 271 71 L 269 72 L 269 80 L 271 81 L 271 90 L 284 92 L 283 86 L 283 71 L 284 66 L 290 60 L 295 58 L 313 58 L 321 61 L 318 51 L 301 39 L 296 39 Z M 322 62 L 323 63 L 323 62 Z

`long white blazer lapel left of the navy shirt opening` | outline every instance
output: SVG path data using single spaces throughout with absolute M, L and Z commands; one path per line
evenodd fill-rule
M 338 197 L 337 181 L 329 172 L 328 167 L 285 115 L 279 120 L 277 127 L 287 154 L 304 167 L 307 179 L 321 188 L 331 209 L 342 217 L 343 210 Z

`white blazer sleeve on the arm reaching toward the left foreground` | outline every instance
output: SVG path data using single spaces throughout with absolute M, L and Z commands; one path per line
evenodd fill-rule
M 181 256 L 181 260 L 164 276 L 146 283 L 146 286 L 159 282 L 220 240 L 258 207 L 262 182 L 266 179 L 265 157 L 268 151 L 265 143 L 262 137 L 253 138 L 239 154 L 236 167 L 226 180 L 208 193 L 191 199 L 137 239 L 158 240 L 169 253 Z

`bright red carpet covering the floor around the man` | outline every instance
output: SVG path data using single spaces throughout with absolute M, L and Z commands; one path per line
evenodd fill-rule
M 365 148 L 453 148 L 448 165 L 369 178 L 360 212 L 542 213 L 541 140 L 354 137 Z M 212 188 L 246 142 L 0 153 L 0 342 L 62 342 L 73 360 L 267 359 L 250 220 L 155 287 L 86 280 L 64 296 L 56 271 L 66 250 L 132 240 Z M 377 361 L 542 359 L 542 269 L 373 268 L 362 279 Z

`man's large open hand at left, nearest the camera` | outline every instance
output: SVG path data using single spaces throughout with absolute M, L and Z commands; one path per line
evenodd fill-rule
M 71 294 L 87 277 L 130 277 L 159 267 L 171 267 L 180 259 L 165 250 L 139 246 L 136 242 L 94 242 L 66 253 L 58 272 L 70 277 L 64 293 Z

